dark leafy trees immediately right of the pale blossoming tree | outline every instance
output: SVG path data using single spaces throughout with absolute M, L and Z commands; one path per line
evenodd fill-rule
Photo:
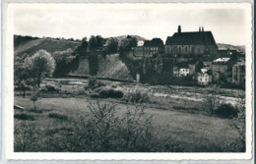
M 76 58 L 73 54 L 73 49 L 69 48 L 65 51 L 56 51 L 53 53 L 53 58 L 56 62 L 54 77 L 66 75 L 70 72 L 73 60 Z

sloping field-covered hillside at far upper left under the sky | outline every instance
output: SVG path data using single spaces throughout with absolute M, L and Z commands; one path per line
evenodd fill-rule
M 55 51 L 64 51 L 68 48 L 75 49 L 80 44 L 80 41 L 70 41 L 67 39 L 14 35 L 14 55 L 21 56 L 27 53 L 32 56 L 32 54 L 40 49 L 53 53 Z

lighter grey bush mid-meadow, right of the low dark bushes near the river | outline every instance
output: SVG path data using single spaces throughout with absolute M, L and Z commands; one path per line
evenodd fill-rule
M 128 92 L 127 102 L 134 102 L 134 103 L 142 103 L 142 102 L 150 102 L 150 96 L 148 92 L 142 92 L 139 89 L 136 89 L 135 92 Z

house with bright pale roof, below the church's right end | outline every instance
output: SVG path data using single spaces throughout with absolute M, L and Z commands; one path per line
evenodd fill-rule
M 233 62 L 230 58 L 218 58 L 212 63 L 213 81 L 227 82 L 227 78 L 231 75 Z

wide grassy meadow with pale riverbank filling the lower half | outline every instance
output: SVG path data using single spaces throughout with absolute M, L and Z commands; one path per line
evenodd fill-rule
M 25 107 L 25 110 L 15 110 L 15 151 L 237 151 L 230 147 L 239 137 L 239 134 L 230 126 L 232 119 L 211 115 L 206 109 L 204 97 L 209 94 L 210 88 L 102 82 L 121 90 L 124 96 L 122 98 L 93 98 L 90 96 L 90 91 L 85 90 L 88 80 L 46 79 L 41 84 L 42 86 L 58 85 L 61 91 L 41 93 L 40 99 L 35 102 L 36 110 L 34 110 L 30 100 L 30 91 L 25 97 L 19 91 L 15 91 L 15 104 Z M 138 89 L 147 93 L 149 100 L 127 102 L 127 95 Z M 244 95 L 244 90 L 222 89 L 218 94 L 220 102 L 234 104 L 239 98 L 238 95 Z M 106 106 L 114 104 L 115 112 L 112 118 L 122 118 L 126 116 L 127 110 L 136 112 L 143 108 L 144 112 L 140 115 L 141 122 L 136 123 L 144 125 L 146 122 L 143 121 L 151 118 L 149 123 L 151 140 L 147 140 L 150 137 L 145 133 L 137 141 L 140 147 L 84 148 L 86 146 L 81 137 L 84 135 L 83 131 L 87 130 L 80 129 L 79 131 L 77 127 L 84 124 L 81 118 L 90 120 L 90 112 L 92 112 L 90 105 L 97 103 L 106 104 Z M 134 126 L 136 128 L 136 125 Z M 109 134 L 112 135 L 111 132 Z M 116 136 L 114 138 L 117 141 L 122 139 Z M 148 143 L 144 145 L 143 142 Z M 116 144 L 118 143 L 111 145 Z

